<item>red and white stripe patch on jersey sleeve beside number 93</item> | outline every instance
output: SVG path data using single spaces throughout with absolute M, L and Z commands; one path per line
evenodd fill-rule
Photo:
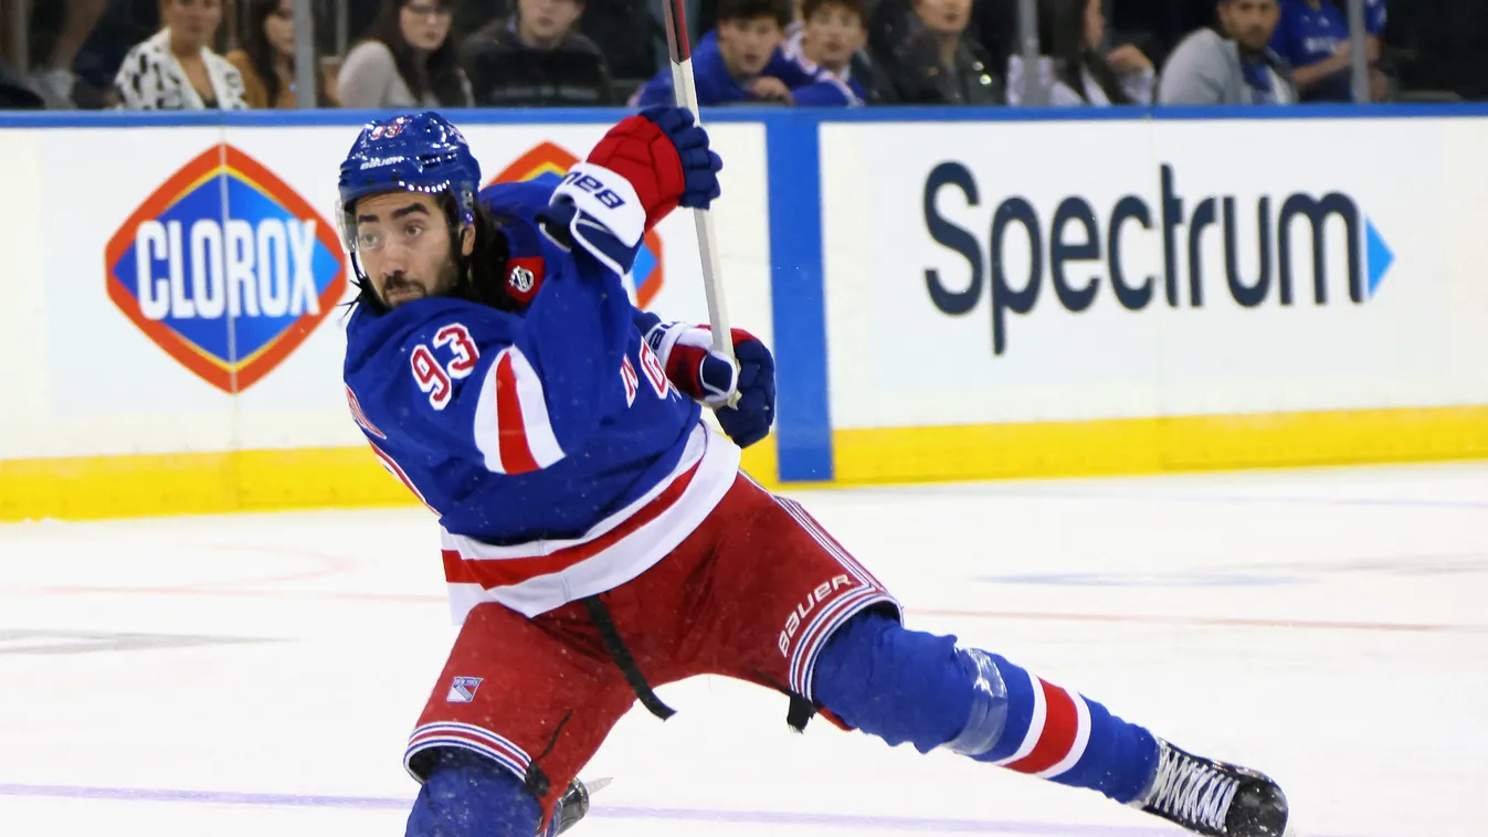
M 516 346 L 501 349 L 481 382 L 475 445 L 496 474 L 525 474 L 564 456 L 548 418 L 543 382 Z

